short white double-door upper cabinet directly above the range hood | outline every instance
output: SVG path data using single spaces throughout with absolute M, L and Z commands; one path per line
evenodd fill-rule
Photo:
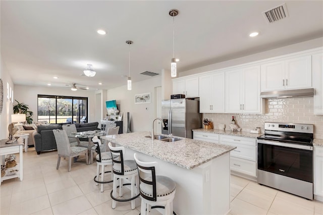
M 311 86 L 311 56 L 261 65 L 261 92 Z

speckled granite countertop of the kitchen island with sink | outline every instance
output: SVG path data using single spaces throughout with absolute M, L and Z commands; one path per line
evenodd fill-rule
M 181 140 L 175 142 L 151 140 L 145 137 L 148 135 L 150 135 L 149 132 L 134 132 L 103 138 L 189 170 L 236 148 L 182 137 L 180 137 Z

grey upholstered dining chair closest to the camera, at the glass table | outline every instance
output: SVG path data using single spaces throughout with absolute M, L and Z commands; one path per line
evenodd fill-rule
M 57 167 L 58 170 L 60 167 L 61 157 L 68 157 L 69 159 L 69 172 L 71 171 L 71 164 L 72 164 L 72 157 L 77 157 L 82 154 L 85 155 L 86 164 L 88 164 L 88 150 L 85 147 L 80 146 L 71 146 L 70 141 L 67 137 L 66 131 L 53 129 L 52 132 L 54 133 L 56 144 L 57 144 Z

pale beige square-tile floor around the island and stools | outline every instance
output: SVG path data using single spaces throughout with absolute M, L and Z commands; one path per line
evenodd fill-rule
M 103 193 L 95 186 L 95 162 L 85 165 L 80 157 L 68 172 L 64 159 L 56 170 L 57 151 L 37 155 L 29 148 L 23 158 L 23 181 L 6 180 L 0 187 L 0 214 L 139 214 L 139 199 L 134 210 L 129 202 L 111 208 L 112 186 L 105 184 Z M 232 176 L 230 214 L 323 214 L 323 204 Z

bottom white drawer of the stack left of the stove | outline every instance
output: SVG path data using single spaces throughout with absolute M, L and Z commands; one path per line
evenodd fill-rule
M 256 163 L 237 157 L 230 157 L 230 169 L 239 173 L 256 177 Z

